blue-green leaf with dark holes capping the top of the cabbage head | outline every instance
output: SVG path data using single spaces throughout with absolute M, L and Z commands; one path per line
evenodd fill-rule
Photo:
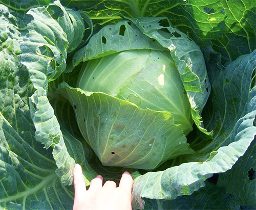
M 73 67 L 81 62 L 129 49 L 164 50 L 164 47 L 155 40 L 145 37 L 131 21 L 126 20 L 108 25 L 96 33 L 86 46 L 75 53 Z

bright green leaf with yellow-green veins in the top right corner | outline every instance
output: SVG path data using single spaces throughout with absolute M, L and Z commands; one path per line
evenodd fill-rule
M 222 63 L 249 54 L 256 47 L 256 5 L 250 0 L 221 1 L 225 9 L 225 33 L 212 40 Z

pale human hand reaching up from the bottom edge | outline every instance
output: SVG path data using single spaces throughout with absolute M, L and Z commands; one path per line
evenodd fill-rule
M 73 172 L 75 199 L 73 210 L 131 210 L 133 178 L 129 172 L 124 172 L 119 187 L 114 181 L 106 181 L 102 187 L 102 176 L 92 179 L 89 190 L 82 176 L 79 164 Z

